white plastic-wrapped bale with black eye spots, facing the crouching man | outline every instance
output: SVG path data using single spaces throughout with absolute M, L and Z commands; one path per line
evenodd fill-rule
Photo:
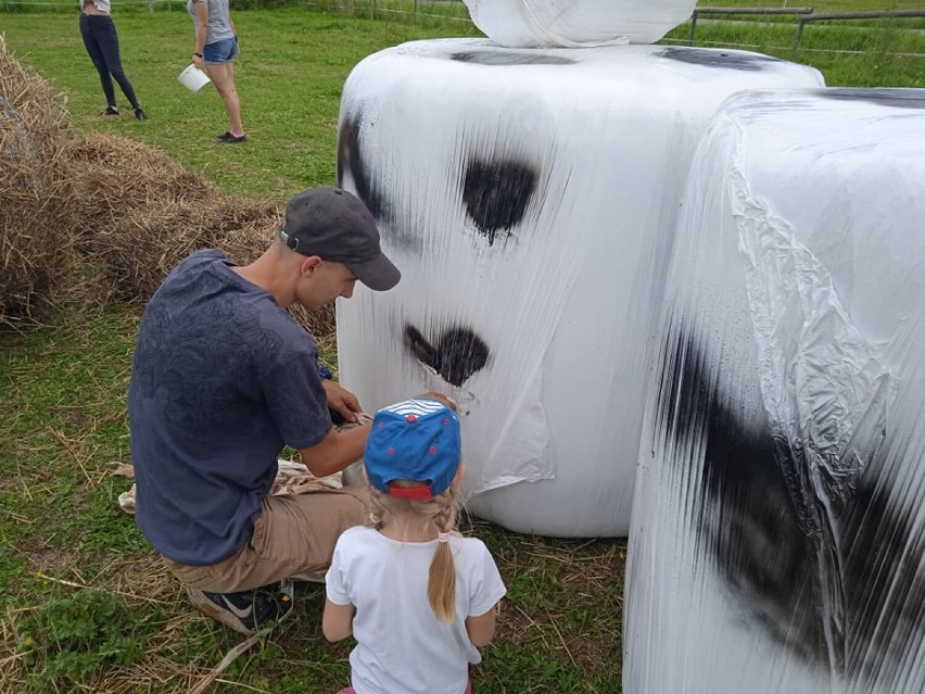
M 339 180 L 403 272 L 338 306 L 366 408 L 425 390 L 463 415 L 466 493 L 514 530 L 625 535 L 668 252 L 710 117 L 744 87 L 818 87 L 764 55 L 406 43 L 341 105 Z

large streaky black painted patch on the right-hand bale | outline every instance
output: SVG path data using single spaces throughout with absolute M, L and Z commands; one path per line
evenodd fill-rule
M 891 487 L 884 449 L 873 446 L 826 514 L 802 442 L 746 424 L 690 335 L 663 367 L 659 427 L 675 451 L 706 446 L 698 543 L 738 603 L 791 653 L 858 691 L 905 691 L 903 661 L 925 638 L 925 538 L 897 503 L 903 490 Z

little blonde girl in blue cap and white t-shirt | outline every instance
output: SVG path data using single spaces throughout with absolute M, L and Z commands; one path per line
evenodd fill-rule
M 329 641 L 357 642 L 340 694 L 468 694 L 505 585 L 484 543 L 456 531 L 456 414 L 422 396 L 380 409 L 364 467 L 371 526 L 338 540 L 321 621 Z

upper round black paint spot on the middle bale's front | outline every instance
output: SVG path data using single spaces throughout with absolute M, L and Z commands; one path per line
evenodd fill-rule
M 470 160 L 466 165 L 463 202 L 489 245 L 495 242 L 499 231 L 509 231 L 523 218 L 536 189 L 536 172 L 522 162 Z

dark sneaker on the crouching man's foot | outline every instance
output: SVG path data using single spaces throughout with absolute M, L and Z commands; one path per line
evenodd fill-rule
M 187 585 L 187 595 L 206 617 L 249 635 L 270 622 L 282 621 L 292 611 L 292 594 L 277 585 L 238 593 L 210 593 Z

